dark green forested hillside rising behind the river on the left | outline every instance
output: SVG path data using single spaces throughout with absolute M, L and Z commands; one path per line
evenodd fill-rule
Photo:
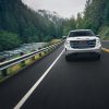
M 33 11 L 22 0 L 0 0 L 0 51 L 25 43 L 48 41 L 62 35 L 62 22 L 57 25 Z

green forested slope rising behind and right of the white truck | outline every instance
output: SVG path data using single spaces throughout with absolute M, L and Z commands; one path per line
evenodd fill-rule
M 68 21 L 64 33 L 71 27 L 93 29 L 102 39 L 109 39 L 109 0 L 87 0 L 84 12 Z

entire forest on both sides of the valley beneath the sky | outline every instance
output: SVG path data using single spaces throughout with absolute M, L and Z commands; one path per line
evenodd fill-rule
M 108 0 L 87 0 L 76 19 L 55 16 L 51 21 L 49 16 L 45 10 L 29 9 L 22 0 L 0 0 L 0 51 L 25 43 L 49 41 L 76 28 L 89 28 L 102 39 L 109 39 Z

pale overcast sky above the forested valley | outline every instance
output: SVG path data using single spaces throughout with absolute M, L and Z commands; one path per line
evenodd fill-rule
M 76 16 L 85 8 L 86 0 L 22 0 L 27 5 L 37 9 L 56 11 L 63 17 Z

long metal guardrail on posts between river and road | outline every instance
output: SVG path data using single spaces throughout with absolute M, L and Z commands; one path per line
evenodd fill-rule
M 39 55 L 39 57 L 41 57 L 41 52 L 47 52 L 49 53 L 50 51 L 52 51 L 56 47 L 58 47 L 60 44 L 62 44 L 62 41 L 59 41 L 57 44 L 53 44 L 51 46 L 48 46 L 46 48 L 43 48 L 40 50 L 37 50 L 37 51 L 34 51 L 34 52 L 31 52 L 31 53 L 27 53 L 27 55 L 24 55 L 24 56 L 21 56 L 19 58 L 15 58 L 15 59 L 12 59 L 12 60 L 9 60 L 9 61 L 5 61 L 5 62 L 2 62 L 0 63 L 0 73 L 2 74 L 2 76 L 7 76 L 7 69 L 15 65 L 15 64 L 19 64 L 19 63 L 24 63 L 25 60 L 27 59 L 34 59 L 35 60 L 35 56 Z

